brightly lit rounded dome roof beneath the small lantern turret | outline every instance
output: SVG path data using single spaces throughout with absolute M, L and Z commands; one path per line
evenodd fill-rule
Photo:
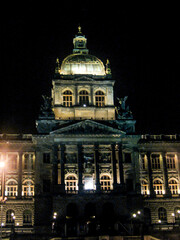
M 97 57 L 90 54 L 74 53 L 68 55 L 60 68 L 62 75 L 106 75 L 104 64 Z

